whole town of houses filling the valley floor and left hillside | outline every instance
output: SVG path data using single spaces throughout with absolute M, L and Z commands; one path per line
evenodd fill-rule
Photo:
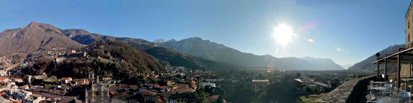
M 110 40 L 108 40 L 110 41 Z M 33 58 L 53 57 L 58 63 L 67 58 L 101 58 L 90 56 L 93 50 L 85 47 L 71 50 L 70 53 L 47 53 Z M 40 51 L 38 51 L 40 52 Z M 62 55 L 64 54 L 64 55 Z M 11 64 L 11 60 L 2 57 L 3 64 Z M 219 74 L 217 71 L 190 69 L 182 66 L 170 66 L 160 73 L 151 71 L 145 73 L 150 81 L 128 83 L 138 73 L 128 73 L 128 78 L 116 78 L 110 75 L 99 77 L 94 71 L 87 73 L 87 78 L 48 76 L 42 73 L 38 76 L 21 76 L 19 69 L 34 62 L 20 62 L 16 67 L 2 65 L 0 91 L 2 98 L 13 103 L 192 103 L 196 102 L 199 91 L 207 93 L 209 102 L 235 96 L 235 85 L 249 85 L 255 92 L 267 90 L 275 82 L 285 81 L 286 76 L 294 75 L 294 91 L 302 94 L 329 92 L 340 84 L 358 78 L 355 75 L 339 73 L 296 73 L 291 71 L 244 71 Z M 17 78 L 13 78 L 17 77 Z M 300 85 L 301 84 L 301 85 Z M 294 86 L 293 86 L 294 87 Z M 309 89 L 307 89 L 309 88 Z M 224 98 L 224 99 L 223 99 Z

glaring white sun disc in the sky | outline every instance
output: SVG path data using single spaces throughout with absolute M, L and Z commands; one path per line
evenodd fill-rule
M 293 34 L 291 27 L 287 25 L 278 25 L 278 27 L 274 28 L 274 38 L 278 44 L 287 44 L 291 41 Z

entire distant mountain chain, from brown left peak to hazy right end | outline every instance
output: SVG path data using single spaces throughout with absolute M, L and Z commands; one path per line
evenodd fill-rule
M 157 39 L 154 42 L 144 39 L 118 38 L 83 29 L 62 30 L 52 25 L 31 22 L 17 29 L 7 29 L 0 33 L 0 53 L 30 53 L 45 47 L 69 48 L 85 46 L 97 41 L 114 39 L 131 45 L 136 50 L 153 55 L 172 66 L 186 66 L 198 69 L 251 69 L 269 66 L 279 70 L 344 70 L 327 58 L 313 57 L 273 57 L 242 53 L 223 44 L 192 37 L 183 40 Z

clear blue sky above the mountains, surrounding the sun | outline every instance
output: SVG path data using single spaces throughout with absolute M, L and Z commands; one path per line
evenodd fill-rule
M 405 43 L 404 16 L 410 2 L 9 0 L 0 1 L 0 31 L 35 21 L 148 41 L 200 37 L 256 55 L 311 56 L 352 64 L 388 46 Z M 274 27 L 279 24 L 292 28 L 292 42 L 280 45 L 275 41 Z

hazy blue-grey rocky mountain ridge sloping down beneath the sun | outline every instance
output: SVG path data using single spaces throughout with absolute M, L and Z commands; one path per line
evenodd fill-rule
M 243 53 L 223 44 L 203 40 L 199 37 L 180 41 L 175 39 L 168 41 L 156 39 L 153 42 L 183 53 L 244 67 L 269 66 L 279 70 L 344 70 L 341 66 L 327 58 L 278 58 L 271 55 L 254 55 L 252 53 Z

